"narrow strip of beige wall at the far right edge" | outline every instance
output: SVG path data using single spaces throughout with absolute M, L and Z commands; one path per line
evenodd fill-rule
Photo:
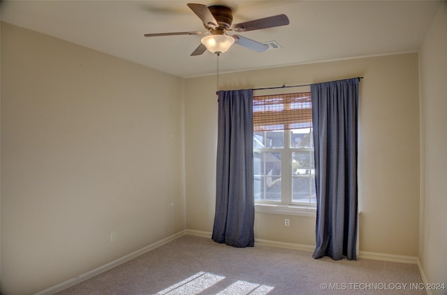
M 419 257 L 427 281 L 439 283 L 447 283 L 446 29 L 447 2 L 444 1 L 420 51 L 423 190 Z

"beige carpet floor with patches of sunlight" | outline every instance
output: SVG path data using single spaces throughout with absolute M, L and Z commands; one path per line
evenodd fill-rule
M 416 264 L 335 262 L 313 259 L 312 252 L 182 236 L 58 294 L 426 294 L 418 284 Z

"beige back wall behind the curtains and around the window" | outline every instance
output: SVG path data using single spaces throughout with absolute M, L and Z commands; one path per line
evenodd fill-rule
M 224 61 L 221 60 L 223 63 Z M 359 109 L 360 250 L 418 255 L 418 54 L 313 63 L 221 75 L 221 89 L 363 76 Z M 186 227 L 212 232 L 217 146 L 216 77 L 185 86 Z M 293 89 L 299 91 L 299 89 Z M 291 218 L 291 227 L 284 227 Z M 314 245 L 312 217 L 256 213 L 259 239 Z

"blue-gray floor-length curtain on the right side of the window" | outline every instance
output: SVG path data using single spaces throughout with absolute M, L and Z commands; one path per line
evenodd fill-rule
M 357 259 L 359 79 L 311 85 L 316 182 L 314 258 Z

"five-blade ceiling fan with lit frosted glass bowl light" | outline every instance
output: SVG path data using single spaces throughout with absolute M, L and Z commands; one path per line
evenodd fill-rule
M 191 10 L 193 10 L 193 13 L 196 13 L 200 20 L 202 20 L 205 29 L 207 29 L 206 32 L 184 31 L 175 33 L 146 33 L 145 37 L 202 35 L 211 33 L 211 35 L 202 38 L 201 44 L 198 45 L 196 50 L 191 53 L 191 56 L 203 54 L 206 50 L 210 50 L 210 52 L 219 55 L 220 53 L 226 52 L 230 46 L 233 45 L 233 43 L 246 47 L 249 50 L 263 52 L 264 50 L 268 49 L 268 45 L 237 34 L 228 36 L 226 32 L 235 31 L 237 33 L 242 33 L 244 31 L 267 29 L 289 24 L 288 17 L 282 14 L 265 17 L 258 20 L 251 20 L 249 22 L 241 22 L 231 26 L 231 23 L 233 22 L 233 12 L 226 6 L 206 6 L 204 4 L 196 3 L 188 3 L 187 5 L 191 8 Z

